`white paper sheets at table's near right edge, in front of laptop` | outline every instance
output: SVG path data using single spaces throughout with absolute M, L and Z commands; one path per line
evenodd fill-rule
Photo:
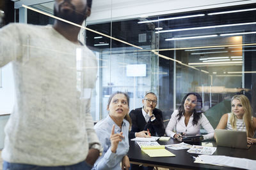
M 200 161 L 199 161 L 200 160 Z M 256 160 L 218 155 L 199 155 L 195 163 L 212 164 L 216 166 L 237 167 L 243 169 L 255 169 Z

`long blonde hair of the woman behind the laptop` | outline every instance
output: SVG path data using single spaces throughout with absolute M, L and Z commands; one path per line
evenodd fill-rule
M 243 115 L 243 122 L 246 127 L 246 134 L 249 138 L 252 138 L 254 134 L 254 127 L 253 127 L 253 122 L 252 122 L 252 108 L 249 99 L 244 96 L 243 94 L 240 95 L 235 95 L 231 99 L 231 104 L 234 99 L 237 99 L 240 101 L 242 104 L 243 110 L 244 110 L 244 115 Z M 232 112 L 232 109 L 231 109 Z M 236 129 L 236 116 L 232 112 L 231 117 L 230 117 L 230 124 L 233 129 Z

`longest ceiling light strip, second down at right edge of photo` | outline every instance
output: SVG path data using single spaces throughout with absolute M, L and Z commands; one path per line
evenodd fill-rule
M 196 29 L 211 29 L 211 28 L 220 28 L 220 27 L 233 27 L 233 26 L 239 26 L 239 25 L 253 25 L 253 24 L 256 24 L 256 22 L 225 24 L 225 25 L 212 25 L 212 26 L 205 26 L 205 27 L 191 27 L 191 28 L 184 28 L 184 29 L 169 29 L 169 30 L 157 31 L 156 33 L 188 31 L 188 30 L 196 30 Z

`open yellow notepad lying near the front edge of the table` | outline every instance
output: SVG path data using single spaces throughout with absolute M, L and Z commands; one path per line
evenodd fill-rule
M 141 146 L 141 150 L 150 157 L 174 157 L 175 155 L 166 150 L 164 145 L 159 146 Z

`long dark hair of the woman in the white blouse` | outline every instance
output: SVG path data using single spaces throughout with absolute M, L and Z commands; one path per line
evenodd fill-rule
M 193 96 L 196 96 L 196 101 L 197 103 L 200 102 L 200 105 L 196 104 L 196 107 L 195 109 L 193 110 L 193 121 L 192 121 L 192 124 L 193 125 L 197 125 L 198 124 L 198 120 L 202 117 L 202 97 L 200 96 L 200 94 L 196 93 L 196 92 L 190 92 L 188 94 L 186 94 L 186 96 L 183 97 L 182 99 L 182 102 L 181 102 L 181 105 L 179 107 L 179 114 L 177 115 L 178 118 L 178 121 L 180 120 L 180 118 L 182 117 L 182 115 L 184 115 L 184 112 L 185 112 L 185 109 L 184 109 L 184 103 L 185 103 L 185 100 L 187 99 L 187 97 L 189 95 L 193 95 Z

